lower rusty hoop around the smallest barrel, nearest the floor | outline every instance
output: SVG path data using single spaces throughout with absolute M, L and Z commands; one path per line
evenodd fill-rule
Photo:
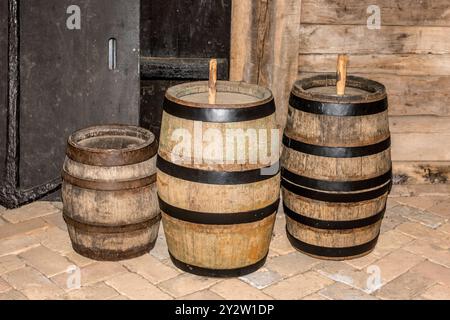
M 127 233 L 127 232 L 134 232 L 138 230 L 144 230 L 148 229 L 151 226 L 157 224 L 161 220 L 161 213 L 159 213 L 157 216 L 148 219 L 143 222 L 134 223 L 134 224 L 127 224 L 122 226 L 103 226 L 103 225 L 94 225 L 89 224 L 86 222 L 80 222 L 77 221 L 71 217 L 67 213 L 63 213 L 63 218 L 66 223 L 75 229 L 85 232 L 85 233 Z

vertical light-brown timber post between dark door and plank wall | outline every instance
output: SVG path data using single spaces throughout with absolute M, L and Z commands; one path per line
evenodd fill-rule
M 269 87 L 284 127 L 289 91 L 297 78 L 299 0 L 233 2 L 230 79 Z

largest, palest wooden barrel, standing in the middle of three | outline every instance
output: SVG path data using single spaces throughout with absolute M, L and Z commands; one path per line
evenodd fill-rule
M 268 162 L 254 161 L 247 149 L 262 151 L 262 136 L 277 130 L 272 93 L 219 81 L 216 104 L 210 105 L 208 83 L 193 82 L 169 88 L 163 110 L 157 184 L 172 261 L 187 272 L 215 277 L 257 270 L 278 209 L 280 153 L 266 150 Z M 239 140 L 238 132 L 258 132 L 260 144 Z M 187 155 L 180 153 L 180 141 Z M 224 161 L 224 154 L 236 161 Z

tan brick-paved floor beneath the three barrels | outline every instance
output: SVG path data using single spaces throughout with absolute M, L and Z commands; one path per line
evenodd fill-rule
M 223 280 L 176 269 L 162 232 L 150 254 L 95 262 L 72 250 L 60 203 L 0 207 L 0 300 L 450 299 L 449 219 L 448 196 L 390 198 L 376 249 L 360 259 L 327 262 L 296 252 L 279 214 L 265 267 Z

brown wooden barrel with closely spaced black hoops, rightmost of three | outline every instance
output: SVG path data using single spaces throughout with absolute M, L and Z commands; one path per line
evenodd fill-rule
M 356 258 L 376 245 L 391 188 L 385 87 L 336 76 L 295 83 L 283 136 L 282 195 L 287 235 L 312 256 Z

